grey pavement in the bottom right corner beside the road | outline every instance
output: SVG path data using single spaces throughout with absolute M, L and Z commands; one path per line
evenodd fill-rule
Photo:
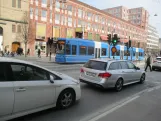
M 161 88 L 141 94 L 97 121 L 161 121 Z

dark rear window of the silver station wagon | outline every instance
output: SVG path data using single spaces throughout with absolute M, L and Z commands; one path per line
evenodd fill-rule
M 90 69 L 95 69 L 95 70 L 105 71 L 107 68 L 107 62 L 90 60 L 84 64 L 84 67 L 90 68 Z

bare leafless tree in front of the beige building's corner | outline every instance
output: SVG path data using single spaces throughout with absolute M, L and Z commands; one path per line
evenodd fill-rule
M 24 12 L 22 22 L 20 24 L 21 31 L 18 33 L 21 43 L 25 45 L 25 57 L 27 56 L 27 44 L 29 40 L 29 13 Z

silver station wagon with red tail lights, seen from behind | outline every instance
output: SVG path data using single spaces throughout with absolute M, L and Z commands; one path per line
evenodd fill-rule
M 144 83 L 145 71 L 126 60 L 91 59 L 80 70 L 80 81 L 121 91 L 124 85 Z

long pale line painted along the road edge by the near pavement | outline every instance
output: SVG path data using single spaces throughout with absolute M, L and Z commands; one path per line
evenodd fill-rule
M 112 108 L 112 109 L 110 109 L 110 110 L 108 110 L 108 111 L 102 113 L 101 115 L 98 115 L 97 117 L 94 117 L 93 119 L 88 120 L 88 121 L 97 121 L 97 120 L 99 120 L 100 118 L 103 118 L 103 117 L 105 117 L 106 115 L 108 115 L 108 114 L 114 112 L 115 110 L 117 110 L 117 109 L 123 107 L 124 105 L 126 105 L 126 104 L 128 104 L 128 103 L 130 103 L 130 102 L 132 102 L 132 101 L 134 101 L 134 100 L 136 100 L 136 99 L 139 98 L 139 97 L 140 97 L 140 96 L 135 96 L 135 97 L 133 97 L 133 98 L 127 100 L 126 102 L 124 102 L 124 103 L 122 103 L 122 104 L 120 104 L 120 105 L 117 105 L 116 107 L 114 107 L 114 108 Z

